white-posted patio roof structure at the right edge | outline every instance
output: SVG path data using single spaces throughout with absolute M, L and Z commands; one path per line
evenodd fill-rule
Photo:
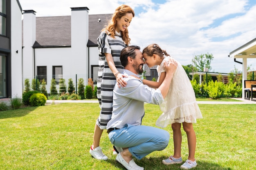
M 252 41 L 247 42 L 243 46 L 240 46 L 236 50 L 229 53 L 229 57 L 233 57 L 235 62 L 236 59 L 243 59 L 243 62 L 238 62 L 243 64 L 242 67 L 242 74 L 243 74 L 243 83 L 242 83 L 242 89 L 244 89 L 244 81 L 247 80 L 247 59 L 249 58 L 256 58 L 256 38 L 254 38 Z M 242 90 L 242 98 L 245 98 L 245 92 Z

